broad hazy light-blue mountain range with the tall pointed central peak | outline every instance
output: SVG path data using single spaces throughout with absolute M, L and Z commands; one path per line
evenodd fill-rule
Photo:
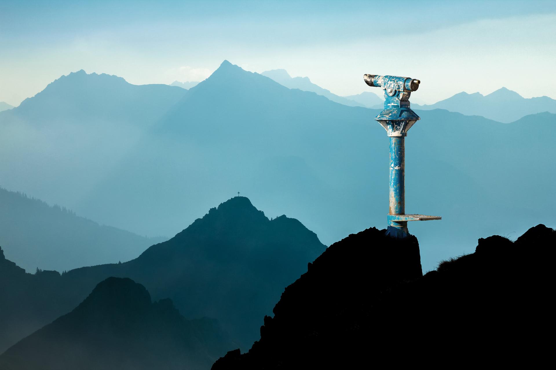
M 81 78 L 101 76 L 64 77 L 77 97 L 89 94 L 72 83 Z M 97 84 L 108 91 L 125 82 Z M 3 186 L 140 235 L 173 235 L 236 191 L 269 215 L 304 220 L 327 245 L 386 224 L 388 137 L 374 120 L 379 110 L 288 89 L 229 62 L 190 90 L 157 88 L 183 95 L 150 124 L 113 114 L 84 125 L 77 108 L 59 121 L 23 107 L 0 112 Z M 59 94 L 49 86 L 26 105 Z M 66 95 L 64 102 L 78 105 Z M 52 118 L 71 109 L 42 110 Z M 556 182 L 556 115 L 503 124 L 440 109 L 418 114 L 406 138 L 406 211 L 443 216 L 409 224 L 424 270 L 468 251 L 477 234 L 556 225 L 556 197 L 532 190 L 533 181 Z

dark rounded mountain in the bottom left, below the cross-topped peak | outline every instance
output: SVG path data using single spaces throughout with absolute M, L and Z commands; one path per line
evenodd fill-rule
M 209 369 L 234 344 L 218 322 L 186 320 L 129 278 L 98 283 L 74 310 L 0 355 L 2 369 Z

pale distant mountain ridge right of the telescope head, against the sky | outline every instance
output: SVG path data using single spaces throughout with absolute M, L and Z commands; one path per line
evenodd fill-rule
M 549 97 L 523 98 L 503 87 L 488 95 L 459 93 L 431 105 L 413 105 L 416 109 L 446 109 L 465 115 L 483 117 L 509 123 L 528 114 L 548 111 L 556 113 L 556 100 Z

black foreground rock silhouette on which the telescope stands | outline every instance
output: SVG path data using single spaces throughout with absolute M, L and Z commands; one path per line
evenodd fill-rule
M 367 229 L 330 246 L 285 289 L 250 351 L 230 351 L 212 370 L 444 362 L 468 347 L 461 363 L 548 359 L 553 229 L 479 239 L 474 253 L 424 276 L 417 240 L 384 234 Z

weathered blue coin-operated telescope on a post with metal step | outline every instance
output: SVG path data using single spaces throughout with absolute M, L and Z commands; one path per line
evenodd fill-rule
M 416 91 L 419 80 L 365 74 L 366 84 L 384 90 L 384 109 L 376 116 L 390 138 L 390 211 L 386 234 L 405 237 L 409 234 L 408 221 L 440 220 L 440 216 L 405 214 L 405 142 L 404 138 L 419 116 L 409 108 L 411 92 Z

